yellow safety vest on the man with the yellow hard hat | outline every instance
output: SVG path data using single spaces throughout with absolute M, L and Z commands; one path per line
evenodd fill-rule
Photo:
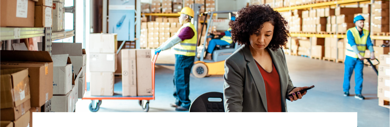
M 197 31 L 195 30 L 195 26 L 190 22 L 183 24 L 183 26 L 179 28 L 179 30 L 176 32 L 175 35 L 178 36 L 181 29 L 187 26 L 189 26 L 194 31 L 194 36 L 191 39 L 183 40 L 182 42 L 174 45 L 172 47 L 172 51 L 174 51 L 174 54 L 179 54 L 184 56 L 195 56 L 196 46 L 197 46 L 196 41 L 198 37 Z

